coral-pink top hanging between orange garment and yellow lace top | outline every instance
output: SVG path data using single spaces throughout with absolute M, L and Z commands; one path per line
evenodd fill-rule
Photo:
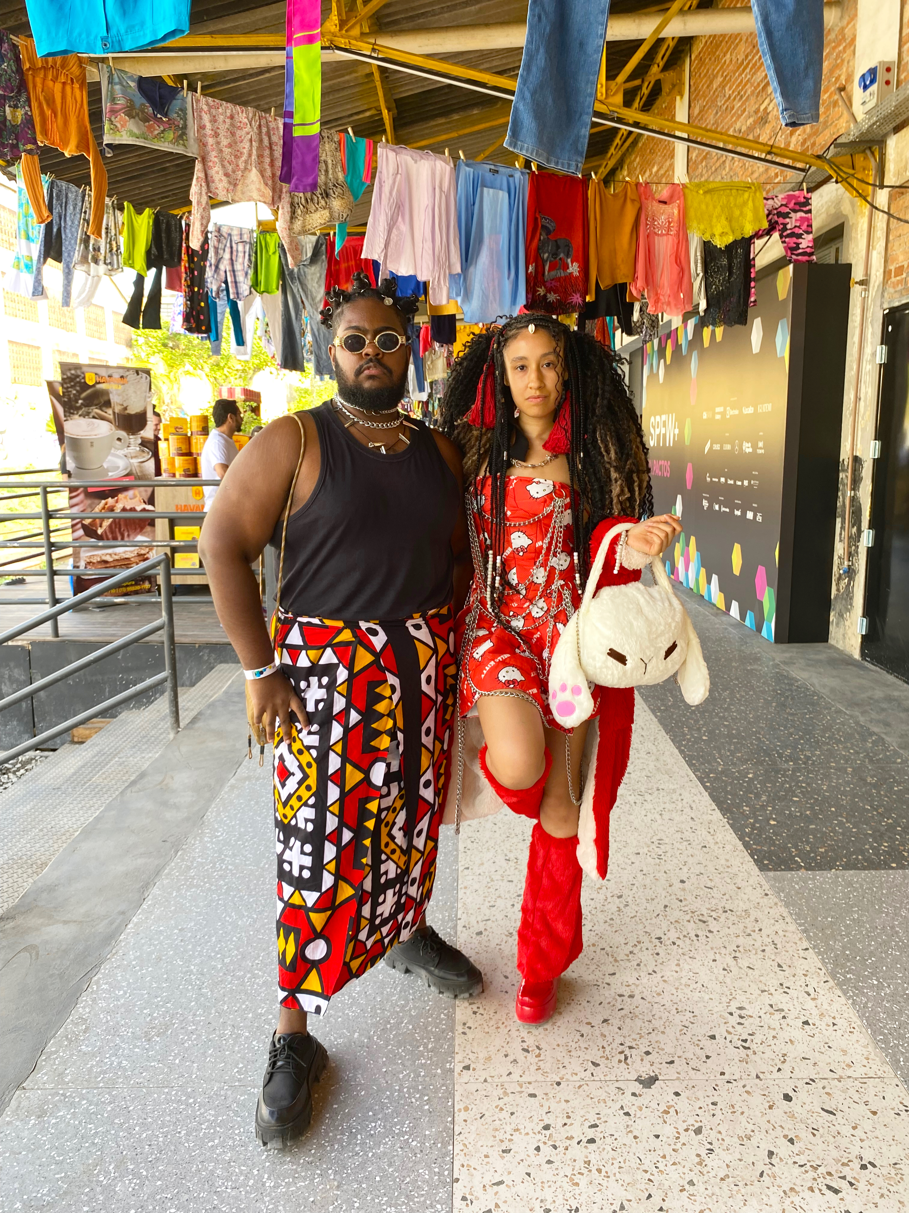
M 668 186 L 657 198 L 638 186 L 641 218 L 631 290 L 647 296 L 647 311 L 681 315 L 691 309 L 691 260 L 681 186 Z

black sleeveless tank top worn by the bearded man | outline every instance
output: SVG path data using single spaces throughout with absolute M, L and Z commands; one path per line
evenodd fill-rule
M 423 422 L 383 455 L 349 434 L 331 403 L 309 416 L 321 467 L 287 520 L 281 610 L 321 619 L 398 620 L 451 600 L 458 483 Z M 275 576 L 281 520 L 271 546 Z

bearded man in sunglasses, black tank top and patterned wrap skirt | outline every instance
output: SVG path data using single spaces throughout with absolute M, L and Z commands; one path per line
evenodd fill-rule
M 453 611 L 471 562 L 461 455 L 398 410 L 416 298 L 354 275 L 322 323 L 338 394 L 271 422 L 222 480 L 199 549 L 274 744 L 278 1030 L 264 1144 L 309 1124 L 327 1063 L 307 1015 L 377 961 L 452 997 L 479 969 L 425 923 L 456 724 Z M 271 636 L 251 563 L 271 542 Z

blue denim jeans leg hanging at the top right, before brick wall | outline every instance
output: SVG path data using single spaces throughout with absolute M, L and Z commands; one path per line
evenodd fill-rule
M 751 0 L 758 46 L 783 126 L 821 116 L 824 0 Z

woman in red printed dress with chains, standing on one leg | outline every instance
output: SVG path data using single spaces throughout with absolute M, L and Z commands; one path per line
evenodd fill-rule
M 681 530 L 653 514 L 647 448 L 616 355 L 554 317 L 478 334 L 454 364 L 442 431 L 464 455 L 474 580 L 458 619 L 459 714 L 478 714 L 480 768 L 536 824 L 518 930 L 515 1012 L 543 1023 L 582 950 L 582 865 L 606 875 L 608 813 L 628 763 L 634 693 L 594 689 L 599 736 L 582 808 L 590 722 L 550 704 L 549 666 L 599 540 L 617 522 L 600 586 L 638 580 Z M 640 519 L 640 520 L 639 520 Z M 558 688 L 554 688 L 558 691 Z M 555 696 L 558 713 L 558 695 Z M 581 838 L 578 837 L 581 824 Z

